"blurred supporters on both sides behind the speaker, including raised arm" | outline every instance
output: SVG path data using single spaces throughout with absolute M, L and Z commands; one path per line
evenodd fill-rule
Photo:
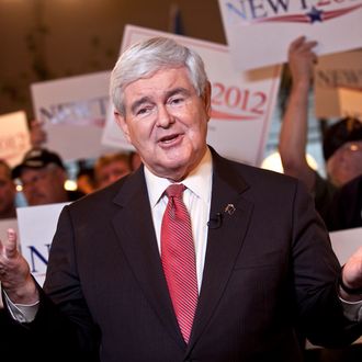
M 327 178 L 315 171 L 306 159 L 309 93 L 313 89 L 316 42 L 295 39 L 289 49 L 287 68 L 292 87 L 283 114 L 279 151 L 285 174 L 302 180 L 329 230 L 362 226 L 362 122 L 341 118 L 323 132 L 321 148 Z M 30 123 L 32 149 L 13 170 L 0 163 L 0 219 L 15 217 L 14 181 L 20 181 L 27 205 L 75 201 L 104 188 L 142 163 L 138 152 L 101 155 L 91 167 L 80 168 L 77 191 L 66 191 L 65 162 L 56 151 L 44 147 L 42 122 Z

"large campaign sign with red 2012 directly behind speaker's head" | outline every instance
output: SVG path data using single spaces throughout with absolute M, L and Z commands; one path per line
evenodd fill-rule
M 237 71 L 225 45 L 132 25 L 124 31 L 122 52 L 134 42 L 151 36 L 174 38 L 200 54 L 212 84 L 207 143 L 225 157 L 260 166 L 279 90 L 281 67 Z M 127 147 L 112 109 L 102 142 L 114 147 Z

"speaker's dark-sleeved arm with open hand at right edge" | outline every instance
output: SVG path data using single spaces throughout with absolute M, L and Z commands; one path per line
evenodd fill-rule
M 361 320 L 352 316 L 354 307 L 341 302 L 358 303 L 358 298 L 342 295 L 338 289 L 340 264 L 331 249 L 321 219 L 308 202 L 305 188 L 297 189 L 293 210 L 293 274 L 301 330 L 314 344 L 327 348 L 346 347 L 360 337 Z M 362 250 L 355 256 L 354 265 L 362 262 Z M 344 273 L 350 268 L 344 265 Z M 361 269 L 353 267 L 344 283 L 360 287 Z M 352 282 L 353 281 L 353 282 Z M 352 313 L 351 313 L 352 312 Z

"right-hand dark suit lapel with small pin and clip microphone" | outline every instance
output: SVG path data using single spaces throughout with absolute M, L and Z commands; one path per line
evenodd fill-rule
M 252 204 L 242 197 L 245 181 L 213 152 L 214 174 L 207 250 L 201 294 L 188 350 L 200 338 L 227 286 L 234 263 L 242 247 L 252 213 Z

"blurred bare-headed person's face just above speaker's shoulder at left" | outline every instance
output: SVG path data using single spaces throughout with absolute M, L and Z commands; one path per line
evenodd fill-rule
M 103 189 L 129 172 L 129 156 L 127 154 L 102 155 L 94 165 L 97 188 Z

